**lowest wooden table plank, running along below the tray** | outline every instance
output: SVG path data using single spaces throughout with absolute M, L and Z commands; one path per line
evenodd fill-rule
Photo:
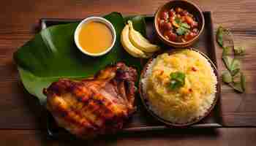
M 130 145 L 254 145 L 255 128 L 219 128 L 212 130 L 179 130 L 163 133 L 155 131 L 151 133 L 121 134 L 114 137 L 105 137 L 91 141 L 70 140 L 59 141 L 56 139 L 46 139 L 44 131 L 37 130 L 0 130 L 1 145 L 108 145 L 108 146 L 130 146 Z

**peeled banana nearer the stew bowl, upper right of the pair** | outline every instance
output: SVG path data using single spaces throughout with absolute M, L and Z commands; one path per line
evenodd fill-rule
M 132 45 L 138 47 L 138 49 L 143 50 L 146 53 L 153 53 L 159 50 L 157 45 L 151 44 L 148 39 L 143 37 L 140 32 L 136 31 L 132 26 L 132 21 L 128 20 L 129 25 L 129 40 L 132 42 Z

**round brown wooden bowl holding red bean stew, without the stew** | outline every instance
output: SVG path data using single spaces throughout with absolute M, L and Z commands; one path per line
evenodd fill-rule
M 196 37 L 194 37 L 193 39 L 190 39 L 187 42 L 173 42 L 173 41 L 170 41 L 170 40 L 166 39 L 161 34 L 161 32 L 159 31 L 158 23 L 157 23 L 159 15 L 161 14 L 161 12 L 163 10 L 171 9 L 173 7 L 181 7 L 182 9 L 187 9 L 187 11 L 190 14 L 194 15 L 195 19 L 198 22 L 198 26 L 199 26 L 199 29 L 198 29 L 199 33 L 197 34 Z M 204 26 L 205 26 L 205 19 L 203 17 L 203 12 L 201 11 L 201 9 L 196 4 L 194 4 L 194 3 L 190 2 L 190 1 L 186 1 L 186 0 L 173 0 L 173 1 L 169 1 L 166 4 L 162 5 L 161 7 L 159 7 L 157 9 L 157 12 L 154 15 L 154 28 L 157 31 L 157 36 L 166 45 L 169 45 L 169 46 L 172 46 L 172 47 L 188 47 L 188 46 L 192 45 L 194 42 L 197 41 L 197 39 L 199 39 L 200 34 L 202 34 L 202 32 L 203 32 Z

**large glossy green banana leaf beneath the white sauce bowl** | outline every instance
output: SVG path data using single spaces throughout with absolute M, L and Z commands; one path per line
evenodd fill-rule
M 107 55 L 93 58 L 80 53 L 73 39 L 78 23 L 45 28 L 13 54 L 24 87 L 36 96 L 41 104 L 45 104 L 46 101 L 42 89 L 59 78 L 79 80 L 91 77 L 105 66 L 118 61 L 134 66 L 140 74 L 142 69 L 140 59 L 126 53 L 120 43 L 121 31 L 127 19 L 118 12 L 112 12 L 104 18 L 109 20 L 116 30 L 116 43 Z M 142 16 L 129 19 L 135 23 L 134 27 L 137 31 L 143 34 L 146 32 L 145 20 Z

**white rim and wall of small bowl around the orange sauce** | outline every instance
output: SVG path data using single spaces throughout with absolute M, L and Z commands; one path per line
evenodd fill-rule
M 112 34 L 112 38 L 113 38 L 112 39 L 112 43 L 111 43 L 110 47 L 108 47 L 108 49 L 105 50 L 102 53 L 89 53 L 86 50 L 83 50 L 83 47 L 80 46 L 80 43 L 78 41 L 78 35 L 80 33 L 81 27 L 83 26 L 83 24 L 89 23 L 91 21 L 104 23 L 106 26 L 108 26 L 108 28 L 110 28 L 110 31 L 111 31 L 111 34 Z M 106 53 L 108 53 L 113 48 L 113 46 L 115 45 L 115 42 L 116 42 L 116 31 L 115 31 L 115 28 L 113 27 L 112 23 L 110 23 L 105 18 L 89 17 L 89 18 L 86 18 L 86 19 L 82 20 L 79 23 L 78 27 L 75 29 L 74 39 L 75 39 L 75 45 L 78 47 L 78 49 L 82 53 L 84 53 L 86 55 L 91 55 L 91 56 L 100 56 L 100 55 L 105 55 Z

